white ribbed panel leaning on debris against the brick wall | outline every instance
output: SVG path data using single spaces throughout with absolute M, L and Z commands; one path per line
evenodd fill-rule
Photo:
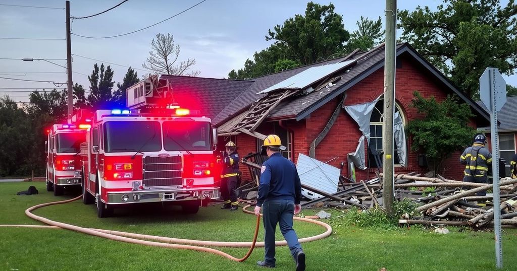
M 337 167 L 315 160 L 307 155 L 299 154 L 296 164 L 298 175 L 302 184 L 314 187 L 328 194 L 338 192 L 339 174 L 341 170 Z M 323 197 L 320 194 L 301 189 L 301 195 L 309 199 Z

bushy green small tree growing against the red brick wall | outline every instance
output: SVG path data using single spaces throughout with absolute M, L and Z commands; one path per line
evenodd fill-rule
M 424 117 L 411 120 L 407 125 L 413 137 L 411 150 L 425 153 L 436 176 L 447 157 L 470 145 L 476 131 L 468 123 L 474 115 L 467 104 L 458 103 L 457 97 L 448 96 L 443 102 L 437 102 L 434 97 L 422 98 L 418 91 L 414 92 L 412 107 Z

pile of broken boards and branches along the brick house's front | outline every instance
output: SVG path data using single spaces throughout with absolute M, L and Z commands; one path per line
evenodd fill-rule
M 255 163 L 256 162 L 256 163 Z M 242 163 L 250 169 L 254 180 L 260 178 L 260 164 L 257 156 L 250 155 L 242 159 Z M 400 217 L 400 224 L 451 225 L 468 226 L 482 229 L 493 226 L 494 211 L 492 194 L 476 196 L 476 193 L 492 190 L 492 184 L 469 183 L 438 178 L 420 177 L 420 174 L 397 174 L 395 181 L 395 197 L 397 200 L 410 200 L 419 207 L 413 214 Z M 360 209 L 383 208 L 382 202 L 382 173 L 370 181 L 351 182 L 339 177 L 336 193 L 324 192 L 317 187 L 302 183 L 302 188 L 319 194 L 322 197 L 302 202 L 302 208 L 321 208 L 332 206 L 348 208 L 356 206 Z M 246 192 L 256 188 L 256 183 L 249 183 Z M 500 205 L 501 225 L 503 227 L 517 226 L 517 179 L 501 179 Z M 256 195 L 256 193 L 254 194 Z M 247 198 L 248 200 L 250 198 Z

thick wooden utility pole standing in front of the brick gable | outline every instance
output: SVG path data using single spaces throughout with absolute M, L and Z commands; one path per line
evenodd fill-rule
M 397 0 L 386 0 L 386 43 L 384 46 L 384 135 L 383 135 L 383 206 L 393 214 L 393 115 L 395 113 L 395 62 Z

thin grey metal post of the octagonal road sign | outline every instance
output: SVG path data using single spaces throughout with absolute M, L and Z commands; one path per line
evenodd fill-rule
M 494 231 L 495 231 L 495 264 L 497 268 L 503 268 L 503 248 L 501 240 L 501 210 L 499 189 L 499 140 L 497 135 L 497 107 L 496 107 L 496 80 L 495 69 L 490 69 L 490 97 L 492 102 L 492 114 L 490 114 L 492 137 L 492 180 L 494 183 Z

